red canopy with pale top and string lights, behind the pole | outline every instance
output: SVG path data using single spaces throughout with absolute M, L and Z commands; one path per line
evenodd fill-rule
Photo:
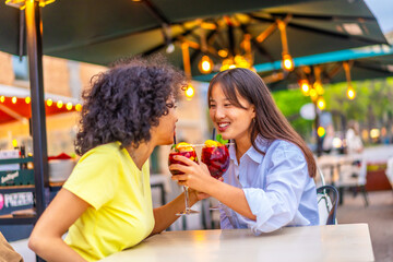
M 29 91 L 0 85 L 0 124 L 23 121 L 32 117 Z M 46 94 L 46 116 L 81 110 L 76 99 Z

